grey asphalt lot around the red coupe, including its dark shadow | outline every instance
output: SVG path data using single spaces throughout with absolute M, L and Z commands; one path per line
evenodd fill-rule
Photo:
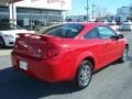
M 124 33 L 123 33 L 124 34 Z M 125 63 L 112 63 L 97 72 L 82 90 L 70 82 L 48 84 L 16 73 L 10 55 L 0 56 L 0 99 L 132 99 L 132 33 Z

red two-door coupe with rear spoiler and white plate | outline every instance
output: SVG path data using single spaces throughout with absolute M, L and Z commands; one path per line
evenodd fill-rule
M 74 80 L 89 85 L 92 73 L 120 59 L 129 44 L 122 34 L 102 23 L 66 23 L 37 34 L 19 34 L 11 54 L 13 67 L 50 82 Z

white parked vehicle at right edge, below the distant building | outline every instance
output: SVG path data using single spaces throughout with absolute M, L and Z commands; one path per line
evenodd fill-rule
M 132 31 L 132 22 L 124 22 L 119 26 L 119 31 Z

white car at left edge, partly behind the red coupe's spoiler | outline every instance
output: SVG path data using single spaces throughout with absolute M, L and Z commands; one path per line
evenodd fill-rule
M 0 23 L 0 47 L 13 46 L 18 33 L 34 33 L 26 31 L 19 25 L 9 23 Z

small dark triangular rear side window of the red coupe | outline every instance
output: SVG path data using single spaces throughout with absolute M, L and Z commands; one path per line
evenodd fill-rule
M 97 29 L 91 30 L 84 36 L 84 38 L 99 38 L 98 30 Z

